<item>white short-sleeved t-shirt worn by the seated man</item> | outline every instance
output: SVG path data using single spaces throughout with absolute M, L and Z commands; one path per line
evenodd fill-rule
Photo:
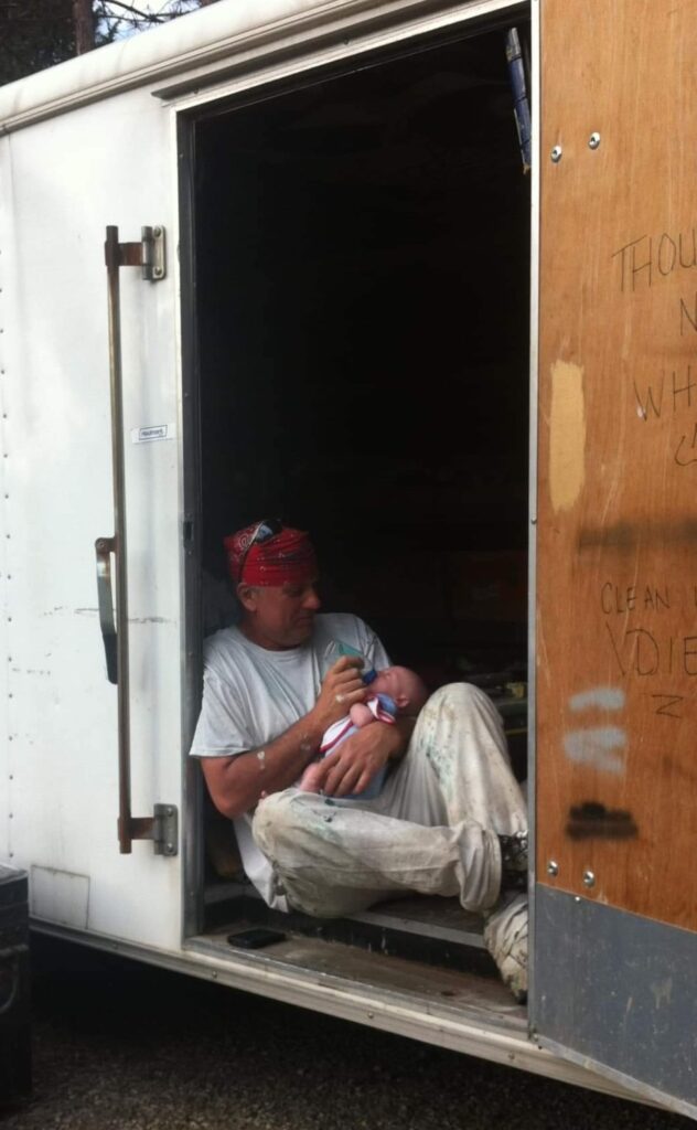
M 193 736 L 193 757 L 229 757 L 273 741 L 307 714 L 340 645 L 358 652 L 367 667 L 390 666 L 375 633 L 357 616 L 343 612 L 315 618 L 312 640 L 287 651 L 252 643 L 238 627 L 224 628 L 203 645 L 203 701 Z M 271 864 L 251 833 L 251 815 L 235 819 L 244 869 L 263 899 L 287 910 L 273 881 Z

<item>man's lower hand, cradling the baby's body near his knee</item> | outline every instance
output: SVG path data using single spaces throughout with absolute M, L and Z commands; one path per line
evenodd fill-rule
M 351 733 L 319 765 L 313 765 L 313 788 L 328 797 L 363 792 L 403 744 L 403 734 L 397 725 L 385 722 L 366 725 Z

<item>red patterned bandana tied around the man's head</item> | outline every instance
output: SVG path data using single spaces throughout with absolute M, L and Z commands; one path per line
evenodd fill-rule
M 317 575 L 317 559 L 307 533 L 287 527 L 265 541 L 254 540 L 250 545 L 250 539 L 259 525 L 259 522 L 253 522 L 244 530 L 237 530 L 236 533 L 223 539 L 233 582 L 277 585 L 314 581 Z

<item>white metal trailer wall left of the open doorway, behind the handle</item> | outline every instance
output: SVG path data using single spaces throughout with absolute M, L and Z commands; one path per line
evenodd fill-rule
M 132 810 L 180 806 L 175 155 L 147 90 L 1 142 L 2 724 L 0 851 L 31 869 L 32 910 L 178 948 L 180 858 L 116 840 L 116 688 L 107 683 L 94 542 L 113 534 L 104 234 L 171 235 L 168 275 L 122 270 L 131 618 Z

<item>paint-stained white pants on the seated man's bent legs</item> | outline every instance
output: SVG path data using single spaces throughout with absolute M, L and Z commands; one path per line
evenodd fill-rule
M 289 904 L 331 918 L 409 892 L 487 911 L 500 887 L 497 833 L 526 827 L 500 718 L 459 683 L 428 699 L 375 800 L 286 789 L 260 802 L 252 831 Z

